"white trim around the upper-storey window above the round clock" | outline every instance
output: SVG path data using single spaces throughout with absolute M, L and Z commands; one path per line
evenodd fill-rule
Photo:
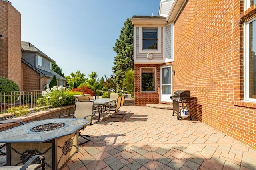
M 157 50 L 143 50 L 143 28 L 157 28 L 157 39 L 158 39 L 158 41 L 157 41 L 157 45 L 158 45 L 158 48 L 157 48 Z M 142 54 L 145 54 L 145 53 L 157 53 L 157 54 L 159 54 L 159 53 L 161 53 L 161 47 L 162 47 L 162 44 L 161 44 L 161 39 L 162 39 L 162 37 L 161 37 L 161 35 L 162 35 L 162 33 L 161 33 L 161 27 L 149 27 L 149 26 L 145 26 L 145 27 L 140 27 L 139 28 L 139 53 L 142 53 Z

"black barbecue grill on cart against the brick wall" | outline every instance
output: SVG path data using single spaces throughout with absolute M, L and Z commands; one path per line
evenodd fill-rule
M 190 100 L 194 100 L 195 98 L 190 97 L 189 90 L 177 90 L 174 92 L 173 96 L 170 97 L 173 103 L 173 113 L 177 114 L 177 119 L 184 119 L 189 117 L 192 120 L 190 115 Z

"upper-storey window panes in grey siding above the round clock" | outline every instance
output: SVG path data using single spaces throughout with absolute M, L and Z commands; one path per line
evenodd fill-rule
M 143 50 L 157 50 L 157 28 L 143 28 Z

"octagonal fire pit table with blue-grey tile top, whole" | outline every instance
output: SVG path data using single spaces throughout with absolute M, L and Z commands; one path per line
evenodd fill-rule
M 60 169 L 78 152 L 78 131 L 86 123 L 84 119 L 46 119 L 0 132 L 0 143 L 7 145 L 7 166 L 43 154 L 46 169 Z

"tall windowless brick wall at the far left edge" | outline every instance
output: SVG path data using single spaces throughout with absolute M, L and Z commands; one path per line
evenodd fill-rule
M 22 90 L 21 14 L 9 2 L 0 0 L 0 76 L 14 81 Z

